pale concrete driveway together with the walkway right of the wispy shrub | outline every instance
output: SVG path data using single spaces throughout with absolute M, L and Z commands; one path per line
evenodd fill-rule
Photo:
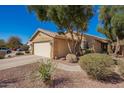
M 40 59 L 46 60 L 43 57 L 35 56 L 35 55 L 18 56 L 18 57 L 14 57 L 14 58 L 1 59 L 0 60 L 0 70 L 13 68 L 13 67 L 17 67 L 17 66 L 22 66 L 22 65 L 26 65 L 26 64 L 36 63 Z M 62 69 L 65 71 L 76 71 L 76 72 L 82 71 L 79 65 L 78 66 L 69 66 L 69 65 L 63 64 L 61 62 L 57 62 L 55 60 L 54 60 L 54 63 L 57 63 L 58 69 Z

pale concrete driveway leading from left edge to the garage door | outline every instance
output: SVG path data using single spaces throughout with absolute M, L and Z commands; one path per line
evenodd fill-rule
M 35 63 L 39 59 L 42 59 L 42 57 L 35 55 L 26 55 L 8 59 L 0 59 L 0 70 Z

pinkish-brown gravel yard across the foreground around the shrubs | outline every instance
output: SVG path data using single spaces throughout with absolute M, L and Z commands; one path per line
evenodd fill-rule
M 34 73 L 38 71 L 39 63 L 28 64 L 25 66 L 9 68 L 0 71 L 0 87 L 10 87 L 10 88 L 37 88 L 46 87 L 39 77 L 35 76 Z M 54 73 L 54 83 L 51 87 L 56 88 L 109 88 L 109 87 L 124 87 L 124 82 L 111 84 L 111 83 L 101 83 L 89 79 L 85 72 L 70 72 L 60 69 L 56 69 Z

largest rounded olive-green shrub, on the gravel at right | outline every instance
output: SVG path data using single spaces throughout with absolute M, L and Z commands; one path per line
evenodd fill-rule
M 92 78 L 105 80 L 112 76 L 115 62 L 106 54 L 92 53 L 80 57 L 79 64 Z

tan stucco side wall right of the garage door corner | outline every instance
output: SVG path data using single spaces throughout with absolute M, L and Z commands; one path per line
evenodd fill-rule
M 72 48 L 72 41 L 69 41 L 70 47 Z M 59 58 L 66 56 L 69 53 L 68 43 L 65 39 L 54 39 L 54 56 Z

